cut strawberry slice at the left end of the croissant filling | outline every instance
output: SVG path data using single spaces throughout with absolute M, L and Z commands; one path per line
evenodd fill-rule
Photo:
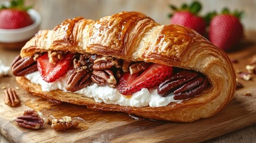
M 67 53 L 63 55 L 63 59 L 56 64 L 49 63 L 48 53 L 38 58 L 38 70 L 45 82 L 54 82 L 67 73 L 72 66 L 72 58 L 74 54 Z

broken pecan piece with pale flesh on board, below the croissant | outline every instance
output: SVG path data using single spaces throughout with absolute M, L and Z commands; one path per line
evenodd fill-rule
M 51 120 L 51 128 L 55 130 L 66 130 L 76 128 L 79 125 L 78 120 L 72 120 L 69 116 L 64 116 L 61 119 Z

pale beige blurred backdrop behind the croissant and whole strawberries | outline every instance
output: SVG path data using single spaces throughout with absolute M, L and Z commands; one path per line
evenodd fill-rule
M 3 1 L 3 0 L 0 0 Z M 161 24 L 169 24 L 169 4 L 180 7 L 185 0 L 26 0 L 33 4 L 34 9 L 42 16 L 41 29 L 53 29 L 54 26 L 67 18 L 85 17 L 98 20 L 106 15 L 119 13 L 120 11 L 139 11 L 149 15 Z M 209 11 L 221 11 L 223 7 L 230 10 L 243 10 L 242 24 L 246 30 L 256 29 L 256 0 L 204 0 L 199 1 L 203 5 L 201 15 Z

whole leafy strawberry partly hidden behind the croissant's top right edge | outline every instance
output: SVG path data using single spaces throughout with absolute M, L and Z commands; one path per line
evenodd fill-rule
M 180 24 L 196 30 L 201 35 L 205 35 L 206 22 L 202 17 L 198 16 L 201 10 L 199 2 L 195 1 L 190 5 L 183 4 L 179 9 L 174 5 L 169 7 L 174 11 L 173 14 L 169 15 L 171 17 L 171 24 Z

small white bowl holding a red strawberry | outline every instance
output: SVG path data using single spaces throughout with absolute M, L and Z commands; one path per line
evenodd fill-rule
M 41 15 L 23 0 L 0 3 L 0 47 L 20 49 L 39 30 Z

